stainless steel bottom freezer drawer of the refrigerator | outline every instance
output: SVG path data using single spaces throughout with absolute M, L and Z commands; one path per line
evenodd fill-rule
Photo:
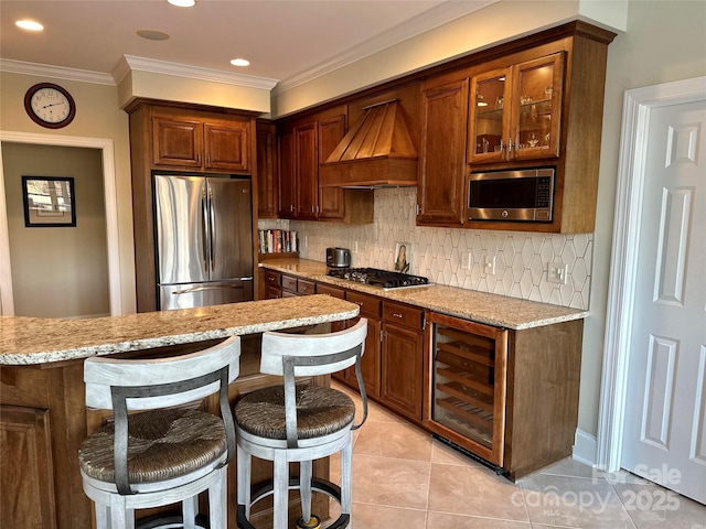
M 252 280 L 162 284 L 159 290 L 162 311 L 253 301 Z

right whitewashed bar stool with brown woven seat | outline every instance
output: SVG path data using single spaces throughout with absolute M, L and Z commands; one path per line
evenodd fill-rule
M 329 528 L 351 522 L 353 430 L 367 418 L 367 398 L 361 376 L 367 320 L 345 331 L 328 334 L 264 333 L 260 371 L 285 377 L 282 386 L 259 389 L 235 406 L 237 431 L 237 525 L 254 529 L 250 506 L 274 495 L 274 529 L 288 527 L 288 490 L 298 488 L 302 516 L 300 528 L 318 528 L 311 514 L 311 493 L 317 490 L 341 504 L 341 516 Z M 295 377 L 328 375 L 355 365 L 363 400 L 363 419 L 354 424 L 355 404 L 342 391 L 297 385 Z M 312 461 L 341 452 L 341 487 L 312 478 Z M 274 462 L 271 482 L 253 490 L 252 456 Z M 289 463 L 299 462 L 299 478 L 289 478 Z

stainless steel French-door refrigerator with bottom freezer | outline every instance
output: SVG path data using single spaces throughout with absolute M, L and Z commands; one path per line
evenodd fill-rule
M 253 300 L 253 197 L 244 179 L 154 176 L 159 309 Z

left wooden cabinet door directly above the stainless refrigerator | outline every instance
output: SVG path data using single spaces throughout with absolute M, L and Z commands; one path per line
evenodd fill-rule
M 154 165 L 201 169 L 203 126 L 196 119 L 154 116 Z

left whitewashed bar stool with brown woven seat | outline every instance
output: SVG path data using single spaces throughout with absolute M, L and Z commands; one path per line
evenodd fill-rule
M 235 453 L 228 384 L 239 370 L 240 339 L 171 358 L 88 358 L 86 406 L 113 410 L 115 422 L 78 452 L 98 529 L 133 529 L 135 509 L 182 501 L 183 527 L 196 526 L 197 495 L 208 490 L 211 529 L 227 526 L 227 463 Z M 221 418 L 183 406 L 217 392 Z M 131 413 L 129 411 L 139 411 Z M 173 518 L 164 525 L 174 527 Z

